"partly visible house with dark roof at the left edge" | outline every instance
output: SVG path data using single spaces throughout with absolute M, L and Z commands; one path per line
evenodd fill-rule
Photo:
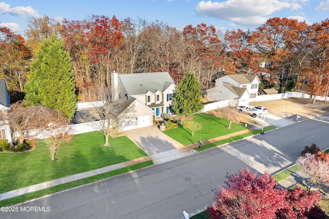
M 4 79 L 0 79 L 0 113 L 6 113 L 9 109 L 9 105 L 10 98 L 8 95 L 6 81 Z M 6 121 L 0 121 L 0 139 L 7 139 L 8 142 L 12 142 L 10 127 L 6 124 Z

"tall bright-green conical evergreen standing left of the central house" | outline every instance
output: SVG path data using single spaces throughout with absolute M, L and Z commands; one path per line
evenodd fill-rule
M 31 71 L 24 87 L 24 104 L 60 109 L 71 119 L 77 103 L 75 80 L 69 53 L 56 34 L 40 45 L 37 58 L 31 63 Z

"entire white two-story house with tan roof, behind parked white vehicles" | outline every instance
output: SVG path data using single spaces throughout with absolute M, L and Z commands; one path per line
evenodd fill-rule
M 227 75 L 216 79 L 215 87 L 207 90 L 208 100 L 229 100 L 233 104 L 248 105 L 249 102 L 256 101 L 259 83 L 255 75 Z

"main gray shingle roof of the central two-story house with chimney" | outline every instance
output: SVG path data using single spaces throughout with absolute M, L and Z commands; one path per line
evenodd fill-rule
M 154 94 L 157 90 L 162 93 L 174 83 L 168 72 L 118 74 L 118 78 L 129 96 L 149 91 Z

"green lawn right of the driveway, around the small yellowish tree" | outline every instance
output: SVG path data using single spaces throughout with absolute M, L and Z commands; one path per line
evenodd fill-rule
M 226 129 L 228 120 L 205 113 L 194 114 L 193 120 L 202 125 L 201 130 L 194 131 L 194 136 L 192 136 L 191 130 L 184 129 L 184 124 L 175 129 L 163 131 L 163 133 L 186 146 L 196 143 L 198 140 L 204 141 L 249 129 L 249 127 L 246 128 L 244 125 L 236 123 L 231 124 L 231 129 Z

